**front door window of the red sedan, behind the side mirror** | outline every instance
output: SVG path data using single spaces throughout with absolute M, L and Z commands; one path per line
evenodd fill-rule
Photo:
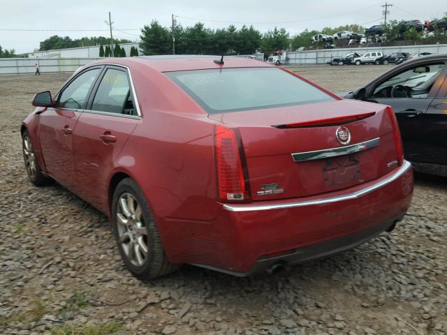
M 78 75 L 78 77 L 76 77 L 75 80 L 68 84 L 64 91 L 62 91 L 57 106 L 74 110 L 82 109 L 87 101 L 87 94 L 89 93 L 90 87 L 100 71 L 100 68 L 94 68 Z

